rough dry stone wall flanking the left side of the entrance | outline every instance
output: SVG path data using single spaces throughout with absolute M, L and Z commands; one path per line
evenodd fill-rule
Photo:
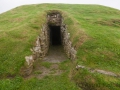
M 42 26 L 41 33 L 37 37 L 34 47 L 30 49 L 33 54 L 30 56 L 25 56 L 27 68 L 25 69 L 24 73 L 26 73 L 27 75 L 32 72 L 34 61 L 38 58 L 43 58 L 47 54 L 50 43 L 49 36 L 49 28 L 47 24 L 45 24 Z

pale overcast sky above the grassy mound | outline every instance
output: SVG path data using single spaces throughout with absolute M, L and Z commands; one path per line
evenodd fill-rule
M 0 0 L 0 13 L 17 6 L 40 3 L 99 4 L 120 10 L 120 0 Z

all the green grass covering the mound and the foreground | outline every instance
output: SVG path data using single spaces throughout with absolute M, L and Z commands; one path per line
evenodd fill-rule
M 24 57 L 31 54 L 30 48 L 33 47 L 42 24 L 46 22 L 47 10 L 62 12 L 73 46 L 77 47 L 77 64 L 120 75 L 119 10 L 100 5 L 36 4 L 24 5 L 0 14 L 0 78 L 18 75 L 20 68 L 24 65 Z M 62 64 L 60 69 L 71 69 L 70 66 L 65 66 L 65 68 Z M 43 65 L 49 67 L 49 64 Z M 81 88 L 90 88 L 90 90 L 120 89 L 119 79 L 117 80 L 115 77 L 91 74 L 86 70 L 75 71 L 75 74 L 69 72 L 72 71 L 68 71 L 68 76 L 70 75 Z M 31 79 L 28 81 L 20 79 L 21 83 L 15 83 L 19 80 L 16 78 L 3 79 L 0 80 L 0 87 L 3 90 L 7 90 L 7 87 L 10 88 L 9 90 L 15 90 L 17 87 L 25 90 L 30 86 L 28 90 L 33 88 L 38 90 L 40 87 L 43 89 L 49 85 L 50 90 L 51 88 L 52 90 L 66 90 L 67 87 L 67 90 L 72 90 L 70 87 L 75 86 L 73 83 L 68 83 L 69 79 L 64 75 L 54 78 L 48 76 L 42 80 Z M 93 83 L 92 80 L 95 82 Z M 54 81 L 57 83 L 55 84 Z M 54 84 L 56 87 L 52 87 Z M 58 84 L 60 86 L 57 86 Z M 77 89 L 73 88 L 73 90 Z

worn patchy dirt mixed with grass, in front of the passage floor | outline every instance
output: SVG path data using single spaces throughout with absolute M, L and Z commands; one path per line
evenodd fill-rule
M 36 77 L 38 79 L 42 79 L 45 76 L 49 76 L 49 75 L 60 75 L 62 74 L 64 71 L 59 69 L 59 64 L 52 64 L 50 66 L 50 68 L 46 68 L 44 66 L 41 65 L 37 65 L 34 67 L 33 72 L 31 75 L 25 77 L 25 79 L 30 79 L 33 77 Z

